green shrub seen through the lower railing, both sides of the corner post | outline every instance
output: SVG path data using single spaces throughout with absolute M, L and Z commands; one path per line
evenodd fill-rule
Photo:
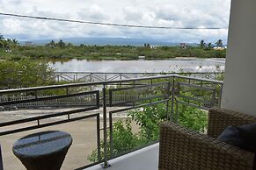
M 159 124 L 166 120 L 166 105 L 144 107 L 143 110 L 132 110 L 128 112 L 131 119 L 117 121 L 113 124 L 113 156 L 129 152 L 157 141 L 159 139 Z M 133 132 L 131 121 L 139 125 L 140 131 Z M 203 110 L 190 106 L 179 106 L 179 124 L 194 131 L 204 132 L 207 125 L 207 114 Z M 109 138 L 109 131 L 107 133 Z M 104 142 L 101 141 L 100 156 L 104 156 Z M 97 150 L 93 150 L 88 156 L 92 162 L 98 161 Z M 110 158 L 110 145 L 107 144 L 107 156 Z

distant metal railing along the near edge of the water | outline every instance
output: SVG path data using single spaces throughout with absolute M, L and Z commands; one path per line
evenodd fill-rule
M 91 81 L 119 81 L 119 80 L 128 80 L 135 78 L 143 78 L 148 76 L 157 76 L 165 74 L 187 74 L 189 76 L 215 79 L 217 74 L 223 74 L 223 72 L 55 72 L 56 81 L 67 81 L 67 82 L 91 82 Z

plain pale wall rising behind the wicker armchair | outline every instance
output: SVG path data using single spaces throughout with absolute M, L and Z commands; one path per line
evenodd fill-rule
M 232 0 L 222 108 L 256 116 L 256 0 Z

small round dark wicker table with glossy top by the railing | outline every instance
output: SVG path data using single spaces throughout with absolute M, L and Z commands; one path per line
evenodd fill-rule
M 64 131 L 43 131 L 19 138 L 12 147 L 27 170 L 59 170 L 72 144 Z

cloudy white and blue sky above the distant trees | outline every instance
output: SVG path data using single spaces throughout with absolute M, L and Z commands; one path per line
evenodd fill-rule
M 230 0 L 0 0 L 0 12 L 113 24 L 228 28 Z M 0 33 L 18 40 L 118 37 L 225 42 L 228 30 L 122 28 L 0 16 Z

